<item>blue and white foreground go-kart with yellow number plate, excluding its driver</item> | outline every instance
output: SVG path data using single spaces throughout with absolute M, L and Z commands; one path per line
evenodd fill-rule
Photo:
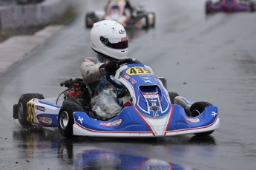
M 64 137 L 210 135 L 218 129 L 217 106 L 168 92 L 165 78 L 156 77 L 150 67 L 133 58 L 119 61 L 119 65 L 115 73 L 106 74 L 111 84 L 122 89 L 119 114 L 100 118 L 92 112 L 92 88 L 75 78 L 60 84 L 67 89 L 57 98 L 23 94 L 13 105 L 13 118 L 28 129 L 59 128 Z

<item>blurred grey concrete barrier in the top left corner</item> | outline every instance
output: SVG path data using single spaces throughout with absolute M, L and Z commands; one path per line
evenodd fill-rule
M 52 23 L 72 0 L 45 0 L 39 4 L 0 7 L 0 30 Z

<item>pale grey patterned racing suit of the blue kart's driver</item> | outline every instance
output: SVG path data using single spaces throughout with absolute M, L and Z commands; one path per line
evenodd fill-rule
M 110 118 L 121 111 L 121 106 L 117 103 L 117 93 L 119 89 L 110 84 L 105 76 L 104 64 L 111 61 L 100 55 L 87 57 L 80 67 L 82 78 L 85 84 L 90 84 L 93 89 L 91 99 L 92 111 L 103 118 Z

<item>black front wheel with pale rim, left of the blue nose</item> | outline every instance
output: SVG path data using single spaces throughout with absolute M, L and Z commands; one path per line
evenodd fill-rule
M 64 137 L 73 136 L 73 112 L 83 112 L 82 106 L 77 103 L 67 101 L 63 103 L 62 109 L 59 111 L 59 132 Z

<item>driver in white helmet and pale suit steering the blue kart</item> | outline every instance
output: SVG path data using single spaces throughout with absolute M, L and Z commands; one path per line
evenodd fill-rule
M 122 24 L 103 20 L 93 24 L 90 44 L 95 57 L 86 57 L 80 71 L 85 84 L 93 89 L 92 111 L 100 118 L 110 118 L 121 111 L 117 103 L 117 94 L 121 89 L 110 84 L 106 72 L 115 72 L 119 68 L 117 61 L 126 58 L 128 37 Z

